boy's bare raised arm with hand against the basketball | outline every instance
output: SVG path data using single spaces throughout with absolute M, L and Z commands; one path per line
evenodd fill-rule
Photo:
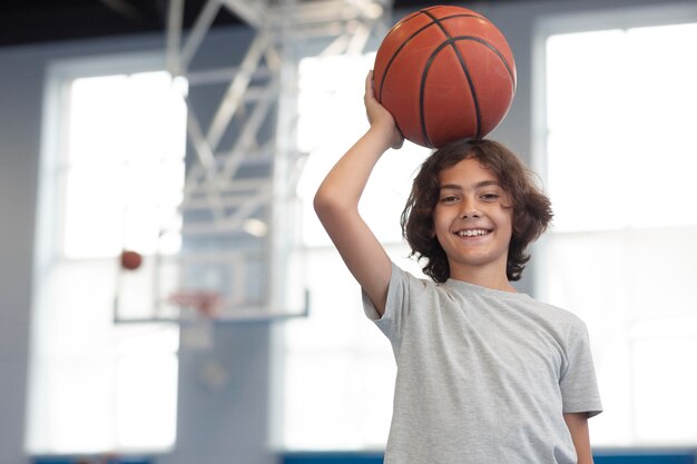
M 359 214 L 359 200 L 373 168 L 403 138 L 392 115 L 373 96 L 373 76 L 365 81 L 365 108 L 370 129 L 336 162 L 320 186 L 314 207 L 351 274 L 382 315 L 392 264 L 384 248 Z

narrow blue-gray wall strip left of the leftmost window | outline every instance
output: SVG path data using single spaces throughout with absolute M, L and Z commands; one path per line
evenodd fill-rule
M 0 52 L 0 463 L 21 462 L 41 65 Z

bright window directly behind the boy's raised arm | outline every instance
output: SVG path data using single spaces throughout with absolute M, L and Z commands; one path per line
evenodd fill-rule
M 297 197 L 310 317 L 284 325 L 285 450 L 384 446 L 396 367 L 387 339 L 362 317 L 361 290 L 313 210 L 320 182 L 367 129 L 367 56 L 306 58 L 300 67 L 298 148 L 308 154 Z M 338 118 L 338 119 L 337 119 Z M 430 151 L 406 142 L 377 164 L 361 203 L 366 221 L 400 266 L 420 275 L 402 243 L 400 214 L 411 179 Z

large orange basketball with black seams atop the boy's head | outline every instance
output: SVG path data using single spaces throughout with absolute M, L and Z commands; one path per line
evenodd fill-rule
M 429 148 L 487 136 L 516 93 L 505 38 L 482 14 L 461 7 L 404 17 L 383 39 L 373 71 L 377 101 L 405 139 Z

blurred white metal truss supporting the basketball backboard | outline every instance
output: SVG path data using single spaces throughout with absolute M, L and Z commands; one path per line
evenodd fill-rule
M 169 1 L 168 70 L 186 78 L 189 100 L 199 86 L 225 90 L 206 118 L 187 101 L 193 152 L 181 203 L 181 285 L 223 264 L 226 280 L 213 283 L 230 290 L 222 292 L 223 319 L 305 314 L 306 305 L 300 313 L 285 307 L 288 205 L 303 156 L 295 147 L 298 60 L 317 43 L 315 55 L 362 52 L 371 37 L 386 33 L 391 1 L 208 0 L 188 31 L 183 30 L 184 7 L 185 0 Z M 222 9 L 242 19 L 253 39 L 239 62 L 195 66 Z M 256 294 L 248 290 L 255 285 L 261 287 Z

